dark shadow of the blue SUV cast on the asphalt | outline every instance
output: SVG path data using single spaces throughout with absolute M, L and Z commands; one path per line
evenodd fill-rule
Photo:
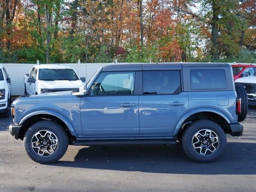
M 51 165 L 166 174 L 256 174 L 255 159 L 256 143 L 228 143 L 224 155 L 210 164 L 191 161 L 181 144 L 86 146 L 74 161 Z

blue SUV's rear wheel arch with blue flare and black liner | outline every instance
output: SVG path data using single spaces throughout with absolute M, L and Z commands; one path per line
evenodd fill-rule
M 215 109 L 195 109 L 189 111 L 180 118 L 174 129 L 174 135 L 179 136 L 182 134 L 188 123 L 200 119 L 211 120 L 220 125 L 225 133 L 229 133 L 229 123 L 231 123 L 231 121 L 224 113 Z

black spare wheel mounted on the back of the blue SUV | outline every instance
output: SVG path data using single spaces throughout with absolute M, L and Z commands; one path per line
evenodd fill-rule
M 241 122 L 244 121 L 247 115 L 248 97 L 244 86 L 235 83 L 235 88 L 237 97 L 241 98 L 241 113 L 237 116 L 237 121 Z

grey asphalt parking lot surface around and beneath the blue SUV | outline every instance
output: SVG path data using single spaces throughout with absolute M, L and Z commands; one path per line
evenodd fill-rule
M 216 162 L 192 162 L 182 146 L 69 146 L 54 164 L 28 158 L 0 119 L 0 192 L 255 192 L 256 108 L 242 137 L 228 137 Z

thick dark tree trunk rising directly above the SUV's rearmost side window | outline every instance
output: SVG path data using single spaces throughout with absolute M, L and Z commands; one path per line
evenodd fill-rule
M 212 1 L 212 32 L 211 32 L 211 42 L 212 42 L 212 59 L 218 59 L 218 2 Z

